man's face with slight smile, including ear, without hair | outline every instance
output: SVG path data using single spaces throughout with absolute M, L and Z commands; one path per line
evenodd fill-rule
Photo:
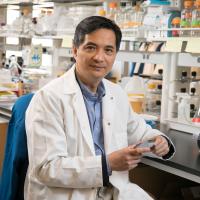
M 73 47 L 76 71 L 84 83 L 99 82 L 111 70 L 116 57 L 115 33 L 98 29 L 85 35 L 84 42 Z

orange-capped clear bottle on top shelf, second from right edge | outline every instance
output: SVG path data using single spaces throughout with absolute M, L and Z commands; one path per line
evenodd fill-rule
M 192 23 L 192 6 L 193 1 L 185 1 L 184 2 L 184 9 L 181 12 L 181 28 L 191 28 Z M 180 31 L 181 37 L 190 37 L 191 30 L 181 30 Z

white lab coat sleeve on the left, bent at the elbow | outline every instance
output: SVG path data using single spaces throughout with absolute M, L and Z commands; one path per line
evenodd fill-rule
M 60 101 L 42 90 L 34 95 L 26 112 L 30 174 L 51 187 L 101 187 L 101 156 L 70 156 L 67 151 Z

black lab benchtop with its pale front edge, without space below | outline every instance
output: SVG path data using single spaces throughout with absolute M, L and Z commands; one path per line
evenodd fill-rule
M 176 153 L 172 159 L 166 161 L 144 157 L 142 163 L 200 183 L 200 149 L 196 136 L 182 131 L 167 130 L 165 125 L 161 125 L 160 130 L 172 140 Z

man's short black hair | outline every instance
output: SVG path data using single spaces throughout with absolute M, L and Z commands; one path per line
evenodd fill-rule
M 112 30 L 116 37 L 116 50 L 120 48 L 122 32 L 119 26 L 112 20 L 101 16 L 90 16 L 83 19 L 76 27 L 73 45 L 79 47 L 85 40 L 85 35 L 98 29 L 105 28 Z

